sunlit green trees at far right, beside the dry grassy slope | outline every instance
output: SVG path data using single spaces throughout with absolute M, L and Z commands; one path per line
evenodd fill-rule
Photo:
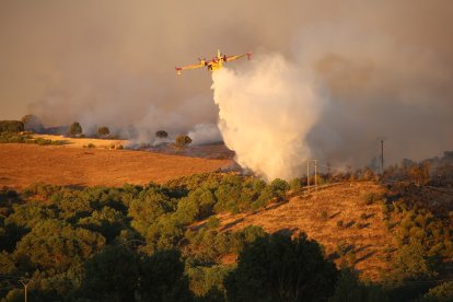
M 391 269 L 382 276 L 392 300 L 417 299 L 435 287 L 437 279 L 444 279 L 445 264 L 453 258 L 453 212 L 432 212 L 429 205 L 414 202 L 414 196 L 407 194 L 408 186 L 394 185 L 380 198 L 385 225 L 396 244 L 396 248 L 387 251 Z M 441 283 L 420 301 L 453 299 L 452 284 Z M 433 292 L 439 298 L 450 298 L 433 299 Z

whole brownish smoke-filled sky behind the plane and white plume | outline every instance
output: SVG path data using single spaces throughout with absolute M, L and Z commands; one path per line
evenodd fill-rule
M 0 118 L 187 132 L 219 109 L 209 72 L 174 67 L 252 50 L 282 55 L 324 88 L 309 136 L 320 158 L 375 152 L 376 136 L 395 160 L 433 155 L 453 149 L 452 23 L 441 0 L 2 0 Z

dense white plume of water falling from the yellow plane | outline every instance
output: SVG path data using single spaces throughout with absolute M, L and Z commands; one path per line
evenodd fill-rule
M 301 175 L 310 158 L 306 136 L 323 107 L 307 73 L 280 55 L 268 55 L 212 73 L 219 129 L 237 163 L 267 181 Z

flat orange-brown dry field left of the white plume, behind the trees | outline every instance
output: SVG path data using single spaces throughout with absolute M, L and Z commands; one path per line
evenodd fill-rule
M 55 137 L 51 139 L 56 140 Z M 232 163 L 230 160 L 185 158 L 146 151 L 89 149 L 81 148 L 89 143 L 86 139 L 76 141 L 77 143 L 45 147 L 1 143 L 0 187 L 22 188 L 39 182 L 61 186 L 123 186 L 125 183 L 143 185 L 217 171 Z M 102 146 L 100 141 L 106 146 L 113 143 L 108 140 L 93 142 L 90 139 L 95 146 Z

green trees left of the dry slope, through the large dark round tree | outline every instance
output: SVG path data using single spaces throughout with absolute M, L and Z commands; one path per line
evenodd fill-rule
M 251 189 L 239 186 L 246 179 L 237 175 L 199 177 L 206 184 L 196 189 L 185 177 L 179 179 L 187 183 L 183 186 L 70 189 L 37 184 L 21 193 L 0 190 L 0 297 L 22 299 L 19 279 L 36 301 L 244 301 L 270 293 L 301 301 L 333 294 L 338 271 L 303 234 L 292 240 L 257 226 L 236 232 L 220 232 L 208 223 L 191 228 L 223 207 L 240 208 L 232 200 L 216 207 L 217 196 L 223 198 L 220 191 Z M 280 190 L 276 184 L 264 184 L 262 190 Z M 256 253 L 264 256 L 256 260 Z M 236 254 L 237 266 L 223 265 L 223 258 Z M 292 255 L 286 266 L 282 255 Z M 277 259 L 279 264 L 269 264 Z M 251 267 L 253 276 L 247 275 Z M 274 292 L 283 280 L 288 288 Z

